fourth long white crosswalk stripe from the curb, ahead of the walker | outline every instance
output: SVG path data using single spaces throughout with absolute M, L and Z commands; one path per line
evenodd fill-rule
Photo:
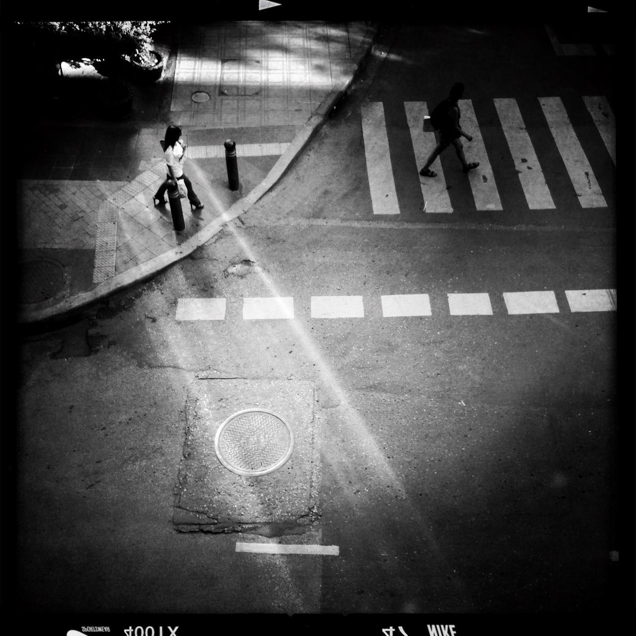
M 495 99 L 495 109 L 531 210 L 554 208 L 548 184 L 515 99 Z

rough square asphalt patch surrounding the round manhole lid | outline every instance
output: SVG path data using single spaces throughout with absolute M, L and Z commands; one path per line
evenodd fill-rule
M 274 471 L 230 471 L 216 433 L 245 409 L 279 413 L 293 431 L 293 452 Z M 172 522 L 180 532 L 298 534 L 317 519 L 314 384 L 301 380 L 197 380 L 186 400 L 186 434 Z

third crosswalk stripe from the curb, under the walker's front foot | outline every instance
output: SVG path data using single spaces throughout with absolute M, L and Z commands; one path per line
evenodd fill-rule
M 473 197 L 478 210 L 501 210 L 501 200 L 495 184 L 495 177 L 492 174 L 490 160 L 486 153 L 486 146 L 483 144 L 481 132 L 477 123 L 477 118 L 473 110 L 473 102 L 469 99 L 459 100 L 459 120 L 462 130 L 472 135 L 473 141 L 467 141 L 462 137 L 464 145 L 464 155 L 468 163 L 478 161 L 479 167 L 468 173 L 468 179 L 473 188 Z

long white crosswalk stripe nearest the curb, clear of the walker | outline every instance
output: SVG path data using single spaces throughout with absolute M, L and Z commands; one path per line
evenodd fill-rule
M 373 214 L 399 214 L 382 102 L 361 106 L 364 157 Z

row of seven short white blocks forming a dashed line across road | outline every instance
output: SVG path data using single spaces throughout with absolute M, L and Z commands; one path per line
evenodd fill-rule
M 616 289 L 567 289 L 565 299 L 570 313 L 616 311 Z M 509 315 L 559 314 L 554 291 L 516 291 L 502 293 Z M 175 319 L 187 321 L 225 321 L 226 298 L 179 298 Z M 237 301 L 240 302 L 240 301 Z M 429 294 L 385 294 L 380 296 L 383 318 L 432 316 Z M 490 294 L 448 293 L 449 315 L 494 315 Z M 364 318 L 363 296 L 311 296 L 309 315 L 312 319 Z M 301 315 L 307 315 L 303 303 Z M 293 320 L 294 298 L 242 298 L 244 321 Z

